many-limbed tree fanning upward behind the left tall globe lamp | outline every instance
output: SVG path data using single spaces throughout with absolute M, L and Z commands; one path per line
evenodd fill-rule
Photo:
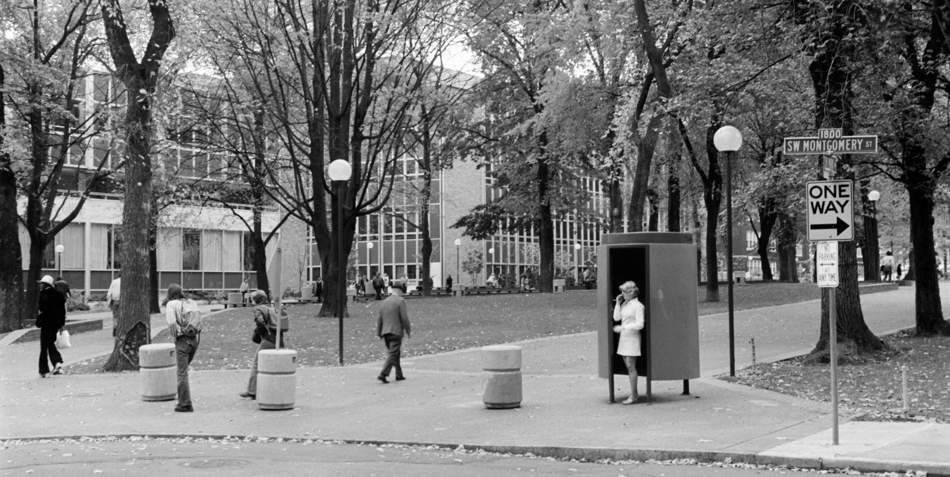
M 346 283 L 337 277 L 357 219 L 383 209 L 394 170 L 414 147 L 407 132 L 420 88 L 413 53 L 429 46 L 416 28 L 432 22 L 423 17 L 431 5 L 235 0 L 199 11 L 216 37 L 209 54 L 218 56 L 218 73 L 248 76 L 249 95 L 261 99 L 276 132 L 280 154 L 268 158 L 261 180 L 276 204 L 314 230 L 328 278 L 321 316 L 335 315 L 337 305 L 346 313 L 338 298 Z M 342 193 L 327 177 L 333 160 L 352 167 Z

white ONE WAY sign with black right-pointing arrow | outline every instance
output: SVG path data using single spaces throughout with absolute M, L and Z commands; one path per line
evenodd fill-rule
M 808 240 L 854 239 L 854 183 L 850 180 L 808 182 Z

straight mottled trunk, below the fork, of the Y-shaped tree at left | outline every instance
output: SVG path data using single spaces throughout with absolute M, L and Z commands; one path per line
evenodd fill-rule
M 152 113 L 145 82 L 127 80 L 128 106 L 125 115 L 125 189 L 122 257 L 122 297 L 119 324 L 112 355 L 103 371 L 134 371 L 139 368 L 139 347 L 150 340 L 149 235 L 152 218 Z M 145 98 L 143 98 L 145 97 Z

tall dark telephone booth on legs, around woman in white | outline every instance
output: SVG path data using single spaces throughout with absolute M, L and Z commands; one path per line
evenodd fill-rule
M 652 402 L 653 380 L 699 377 L 699 308 L 697 302 L 696 246 L 693 235 L 680 232 L 607 233 L 598 247 L 598 370 L 610 386 L 614 376 L 628 375 L 617 355 L 619 334 L 614 332 L 614 304 L 620 284 L 632 281 L 644 306 L 637 374 L 647 379 Z

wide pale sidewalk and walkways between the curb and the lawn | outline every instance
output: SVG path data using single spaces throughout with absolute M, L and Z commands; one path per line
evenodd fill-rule
M 911 288 L 863 295 L 864 319 L 878 334 L 911 327 L 913 296 Z M 941 284 L 941 297 L 950 306 L 950 285 Z M 759 362 L 807 353 L 819 316 L 817 300 L 736 312 L 737 367 L 751 363 L 751 338 Z M 0 340 L 0 439 L 252 435 L 589 461 L 731 460 L 950 475 L 948 424 L 855 422 L 844 414 L 840 445 L 832 446 L 826 403 L 714 378 L 729 371 L 727 321 L 726 314 L 701 317 L 702 377 L 691 381 L 690 395 L 680 394 L 680 381 L 655 381 L 654 402 L 634 406 L 608 404 L 594 333 L 522 341 L 524 398 L 515 410 L 485 409 L 477 349 L 404 358 L 409 378 L 387 385 L 374 379 L 379 363 L 298 368 L 295 409 L 281 412 L 260 411 L 237 396 L 246 370 L 193 371 L 196 412 L 189 414 L 174 413 L 174 401 L 142 401 L 137 373 L 37 378 L 37 343 L 3 346 L 8 336 Z M 153 332 L 161 325 L 153 321 Z M 65 357 L 108 353 L 111 341 L 106 330 L 77 335 Z M 617 393 L 628 393 L 625 379 L 617 380 Z

